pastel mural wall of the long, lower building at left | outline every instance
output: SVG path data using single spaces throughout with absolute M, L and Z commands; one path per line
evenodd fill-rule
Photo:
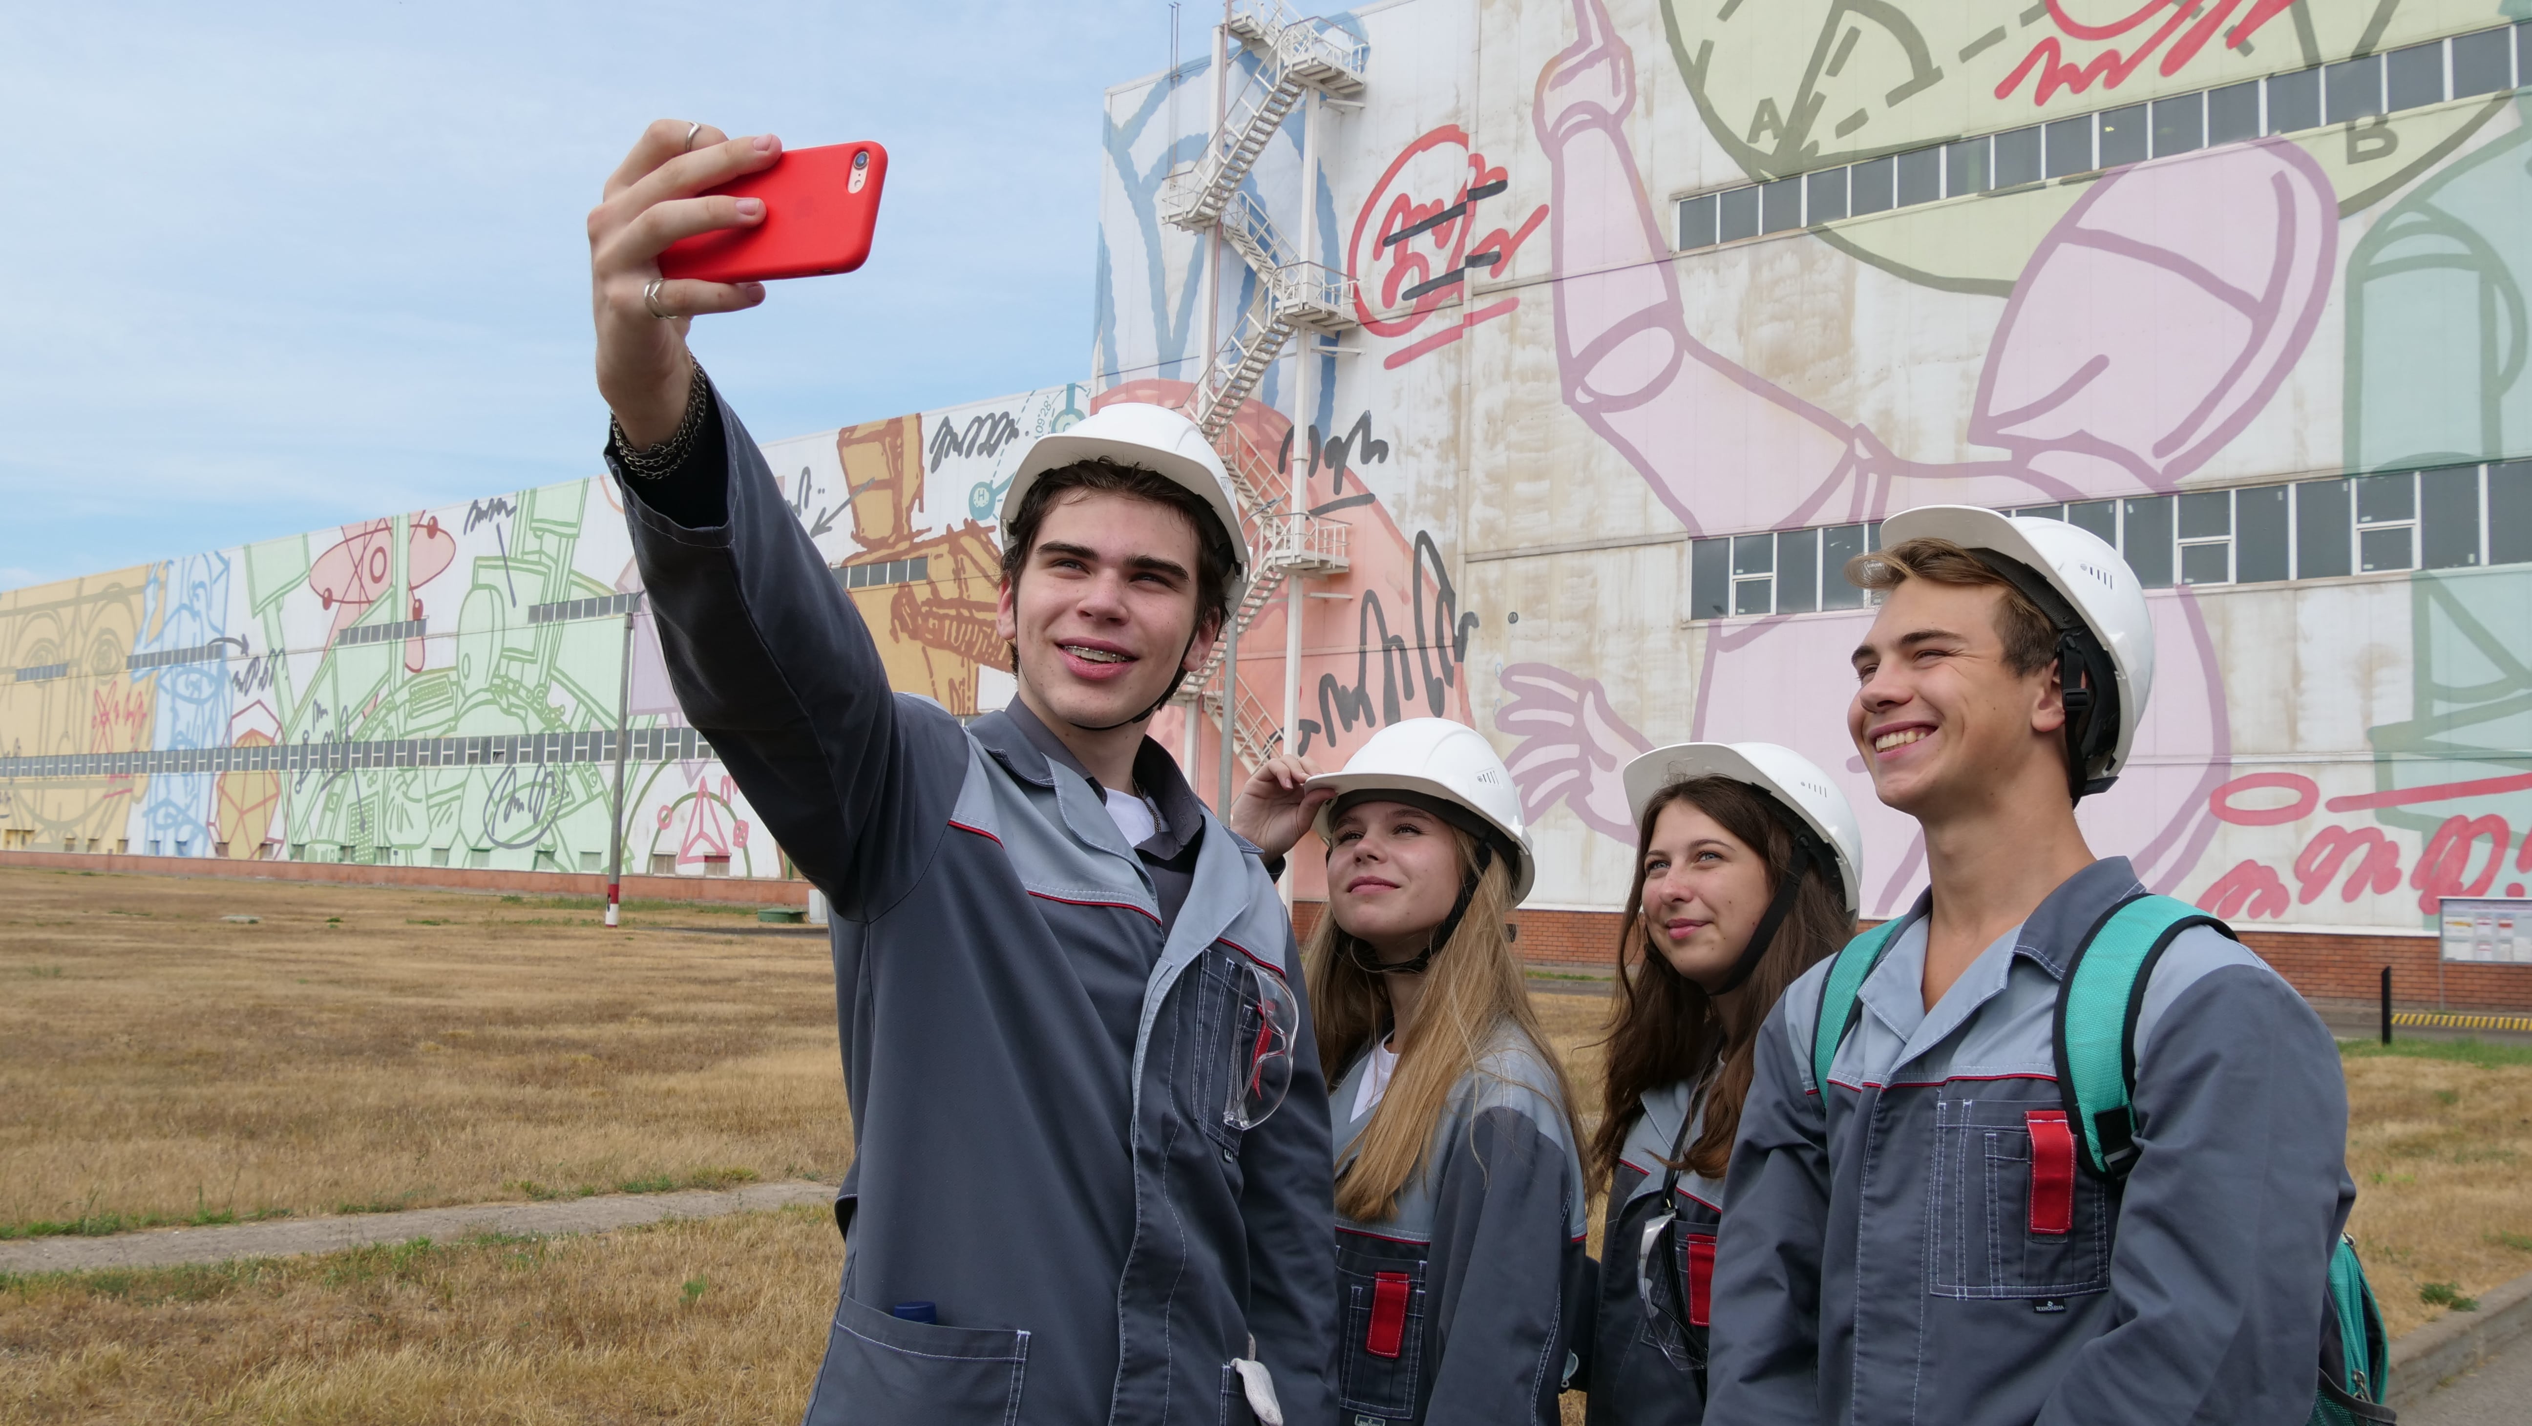
M 765 446 L 899 689 L 1000 707 L 993 514 L 1061 385 Z M 595 476 L 0 593 L 0 833 L 30 851 L 780 876 L 668 689 Z M 630 638 L 625 633 L 630 613 Z M 625 651 L 630 648 L 630 679 Z

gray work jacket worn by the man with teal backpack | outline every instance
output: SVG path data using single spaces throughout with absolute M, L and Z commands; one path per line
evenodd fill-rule
M 2033 1163 L 2026 1114 L 2061 1107 L 2066 955 L 2137 892 L 2127 859 L 2094 861 L 1932 1011 L 1919 899 L 1826 1097 L 1810 1028 L 1833 960 L 1793 983 L 1724 1188 L 1714 1421 L 2302 1426 L 2355 1185 L 2340 1054 L 2294 988 L 2183 932 L 2134 1026 L 2134 1168 L 2076 1170 L 2069 1201 L 2053 1145 Z

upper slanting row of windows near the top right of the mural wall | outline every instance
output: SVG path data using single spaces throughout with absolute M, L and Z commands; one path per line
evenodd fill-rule
M 2446 99 L 2499 94 L 2524 79 L 2532 79 L 2532 23 L 2476 30 L 2345 63 L 1681 198 L 1679 248 L 1712 248 L 1937 198 L 2021 187 L 2261 134 L 2291 134 Z

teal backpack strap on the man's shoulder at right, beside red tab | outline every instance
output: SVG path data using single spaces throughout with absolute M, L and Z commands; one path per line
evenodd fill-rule
M 2233 927 L 2170 897 L 2137 894 L 2112 907 L 2074 947 L 2059 985 L 2056 1061 L 2066 1120 L 2079 1125 L 2084 1163 L 2117 1178 L 2137 1158 L 2137 1011 L 2155 962 L 2188 927 Z M 2238 937 L 2236 937 L 2238 940 Z

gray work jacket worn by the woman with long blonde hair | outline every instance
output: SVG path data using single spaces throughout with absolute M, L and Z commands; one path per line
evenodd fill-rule
M 1370 1054 L 1332 1092 L 1337 1165 Z M 1582 1160 L 1557 1076 L 1517 1031 L 1451 1087 L 1420 1173 L 1377 1223 L 1337 1218 L 1339 1411 L 1347 1426 L 1534 1426 L 1557 1421 L 1585 1309 Z M 1296 1423 L 1301 1418 L 1294 1418 Z

